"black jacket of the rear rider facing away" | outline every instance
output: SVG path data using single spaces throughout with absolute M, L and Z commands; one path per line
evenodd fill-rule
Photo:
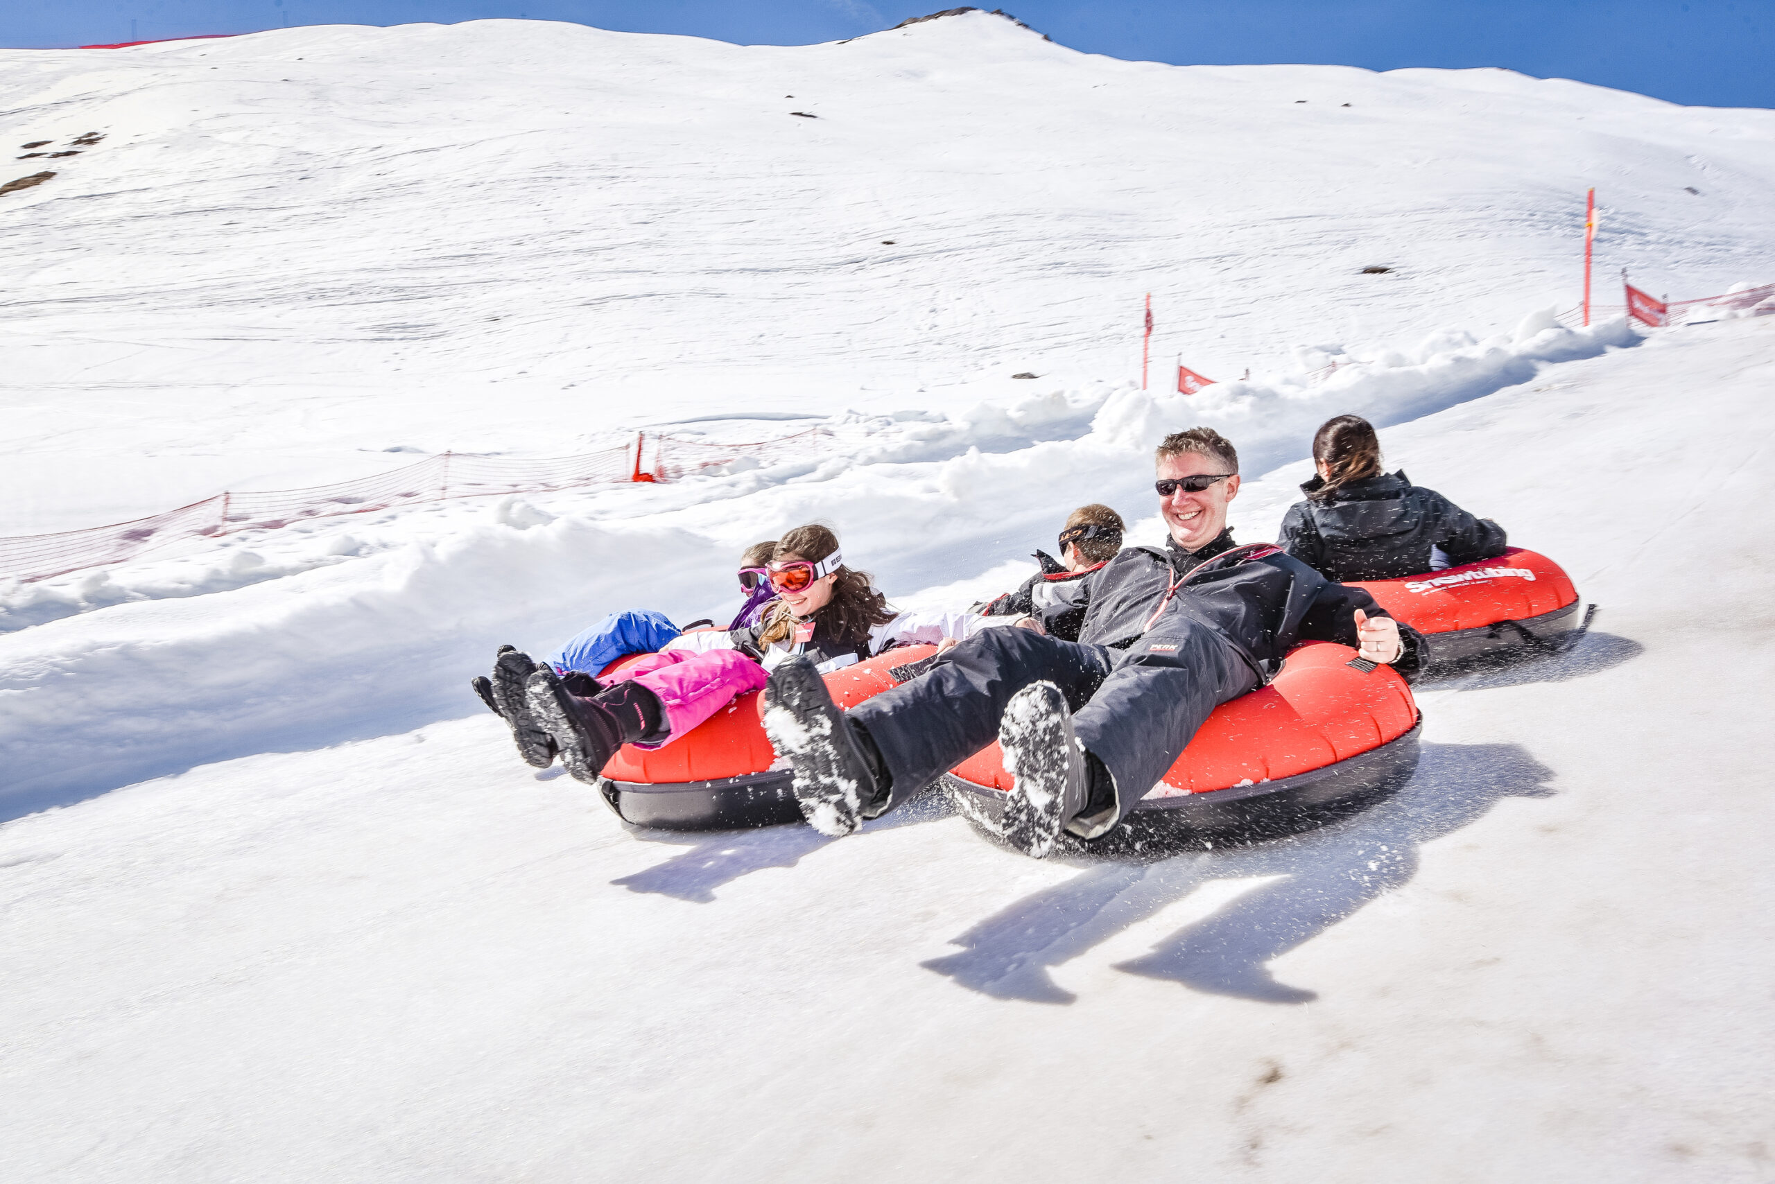
M 1321 478 L 1301 486 L 1324 488 Z M 1392 580 L 1431 570 L 1431 549 L 1450 566 L 1502 556 L 1503 527 L 1411 485 L 1404 470 L 1351 481 L 1329 501 L 1289 506 L 1276 545 L 1333 580 Z

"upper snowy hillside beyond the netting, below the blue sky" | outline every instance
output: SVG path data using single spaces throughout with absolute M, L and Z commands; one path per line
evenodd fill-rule
M 9 534 L 410 460 L 389 447 L 1083 389 L 1138 371 L 1147 291 L 1161 375 L 1484 337 L 1573 302 L 1589 185 L 1599 273 L 1654 291 L 1766 279 L 1775 220 L 1770 112 L 1120 62 L 987 14 L 804 48 L 474 21 L 0 66 L 9 144 L 106 135 L 0 197 Z

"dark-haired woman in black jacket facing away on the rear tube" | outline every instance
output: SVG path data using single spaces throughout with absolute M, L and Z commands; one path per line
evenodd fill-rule
M 1319 476 L 1289 506 L 1278 545 L 1329 580 L 1390 580 L 1503 554 L 1503 527 L 1381 472 L 1381 440 L 1360 415 L 1314 433 Z

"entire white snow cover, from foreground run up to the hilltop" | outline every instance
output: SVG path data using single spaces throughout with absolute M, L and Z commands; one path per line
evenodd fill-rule
M 1775 318 L 1550 314 L 1587 185 L 1601 273 L 1770 279 L 1775 114 L 985 14 L 0 64 L 14 142 L 105 135 L 0 195 L 4 533 L 827 428 L 0 584 L 0 1179 L 1775 1175 Z M 1179 351 L 1227 382 L 1163 394 Z M 637 831 L 467 689 L 605 611 L 731 611 L 738 550 L 811 518 L 900 607 L 1014 586 L 1085 501 L 1156 541 L 1150 446 L 1193 422 L 1269 538 L 1345 410 L 1603 612 L 1420 685 L 1416 779 L 1314 834 L 1031 861 L 934 799 Z

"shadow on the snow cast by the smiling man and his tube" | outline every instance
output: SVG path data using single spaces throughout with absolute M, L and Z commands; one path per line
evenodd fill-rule
M 1289 840 L 1175 856 L 1093 861 L 980 921 L 960 953 L 923 966 L 998 999 L 1072 1003 L 1049 971 L 1214 880 L 1282 877 L 1157 943 L 1118 969 L 1260 1003 L 1306 1003 L 1269 964 L 1418 870 L 1418 847 L 1505 797 L 1550 797 L 1553 776 L 1516 744 L 1425 744 L 1416 776 L 1367 813 Z

